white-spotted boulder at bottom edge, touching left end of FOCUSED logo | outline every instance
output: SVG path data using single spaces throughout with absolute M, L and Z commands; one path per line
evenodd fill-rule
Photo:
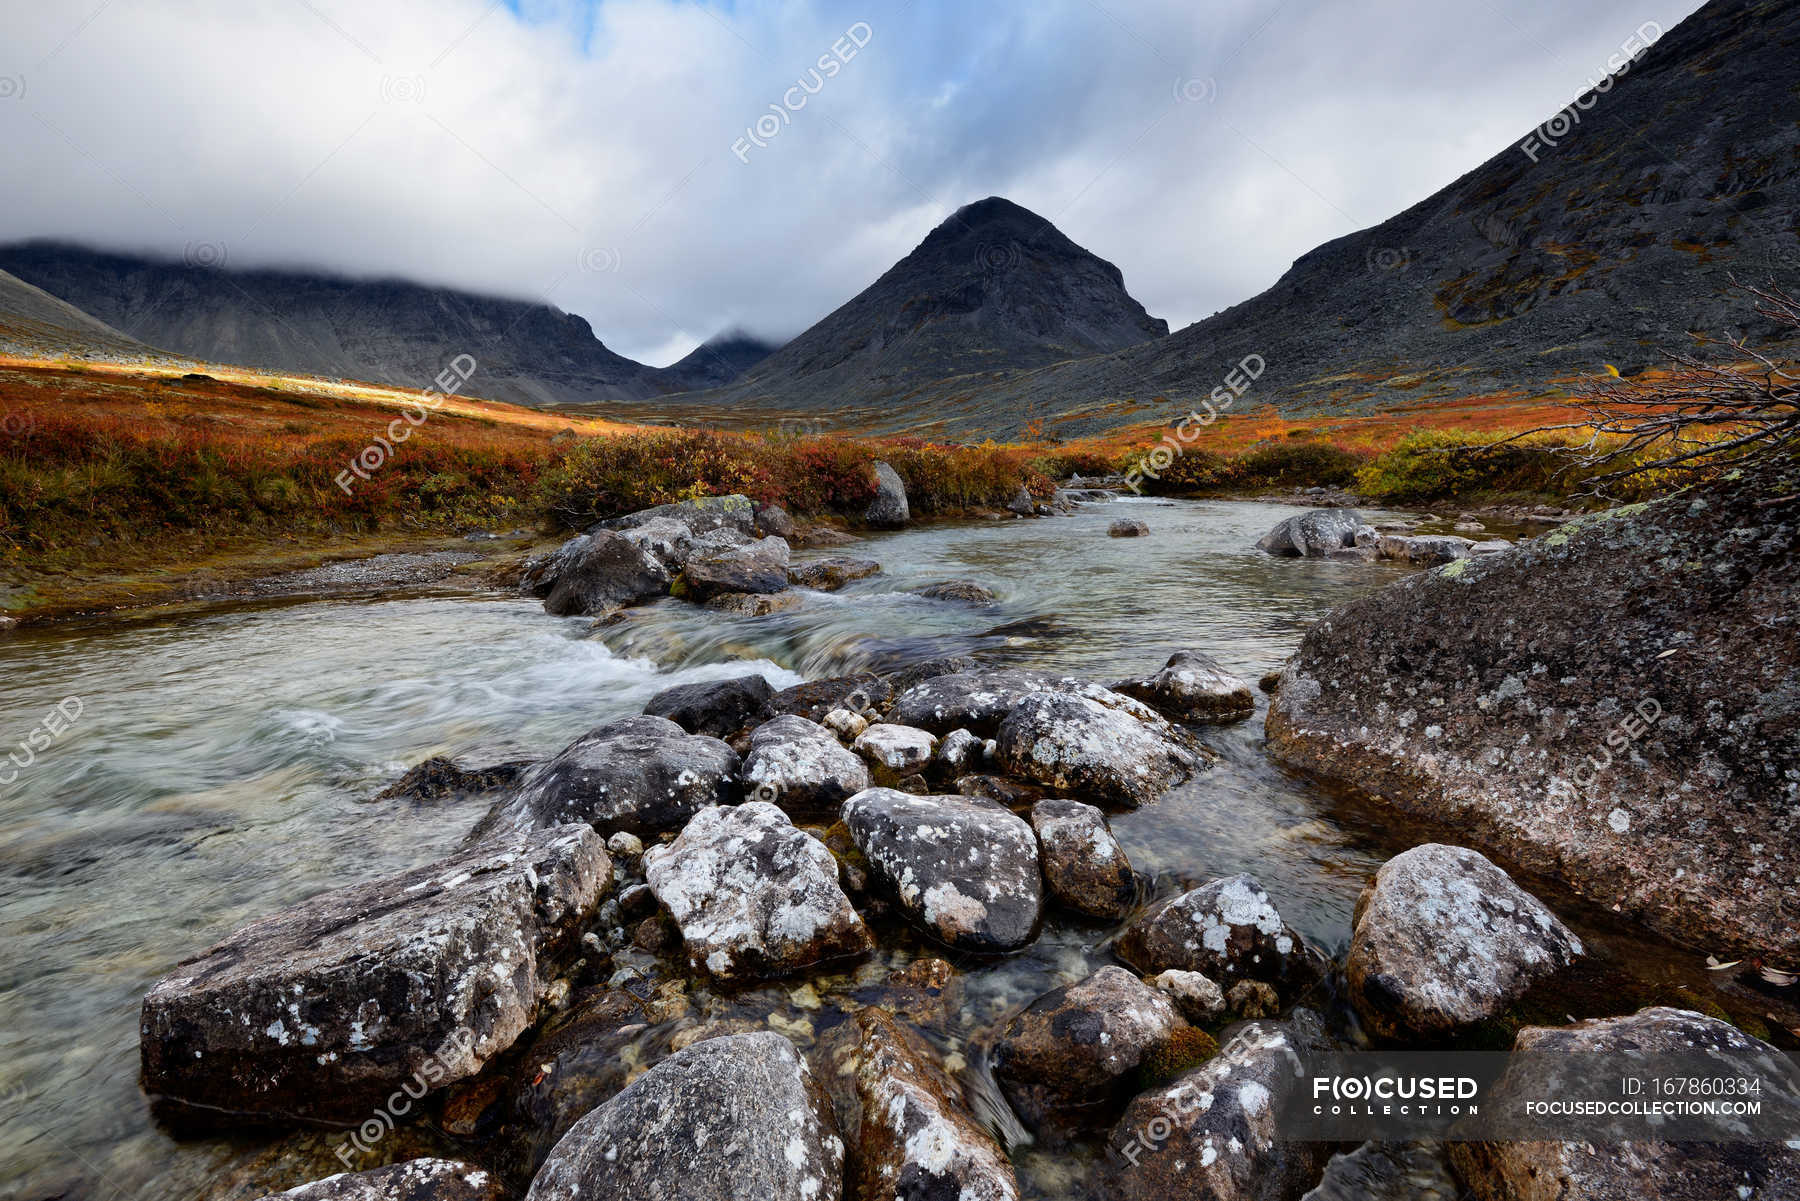
M 1291 1140 L 1282 1111 L 1300 1066 L 1330 1050 L 1319 1019 L 1247 1023 L 1211 1061 L 1139 1093 L 1107 1138 L 1118 1201 L 1294 1201 L 1318 1183 L 1330 1143 Z

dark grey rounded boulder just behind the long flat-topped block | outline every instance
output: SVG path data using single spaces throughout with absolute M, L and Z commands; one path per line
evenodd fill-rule
M 583 821 L 603 832 L 657 834 L 707 805 L 736 799 L 736 751 L 664 717 L 626 717 L 594 727 L 533 769 L 488 825 Z

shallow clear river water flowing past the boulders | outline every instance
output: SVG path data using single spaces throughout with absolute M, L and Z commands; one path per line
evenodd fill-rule
M 745 670 L 785 686 L 976 652 L 1109 682 L 1192 648 L 1255 679 L 1325 610 L 1400 574 L 1258 553 L 1294 511 L 1121 501 L 871 537 L 835 553 L 878 558 L 882 576 L 758 619 L 662 601 L 592 632 L 535 601 L 421 596 L 7 639 L 0 756 L 65 697 L 83 713 L 0 789 L 0 1179 L 20 1197 L 193 1196 L 229 1147 L 176 1143 L 149 1124 L 137 1089 L 144 990 L 248 918 L 448 852 L 479 805 L 373 799 L 421 758 L 547 756 L 671 682 Z M 1152 535 L 1109 538 L 1127 513 Z M 976 609 L 904 591 L 947 578 L 1001 600 Z M 1294 926 L 1339 951 L 1379 848 L 1264 758 L 1260 713 L 1204 740 L 1215 769 L 1114 819 L 1132 861 L 1165 891 L 1251 871 Z M 970 1012 L 1066 983 L 1103 960 L 1107 935 L 1048 922 L 1026 953 L 970 967 Z M 1057 1179 L 1055 1163 L 1028 1156 L 1022 1169 L 1033 1188 Z

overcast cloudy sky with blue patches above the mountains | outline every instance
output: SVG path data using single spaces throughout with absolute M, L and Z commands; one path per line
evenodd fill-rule
M 0 0 L 0 239 L 545 299 L 661 366 L 790 337 L 1003 194 L 1179 328 L 1696 7 Z

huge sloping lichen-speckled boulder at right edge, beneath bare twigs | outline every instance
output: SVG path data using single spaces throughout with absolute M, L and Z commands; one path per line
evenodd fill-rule
M 1269 749 L 1672 938 L 1793 962 L 1796 542 L 1800 501 L 1732 481 L 1420 573 L 1307 632 Z

